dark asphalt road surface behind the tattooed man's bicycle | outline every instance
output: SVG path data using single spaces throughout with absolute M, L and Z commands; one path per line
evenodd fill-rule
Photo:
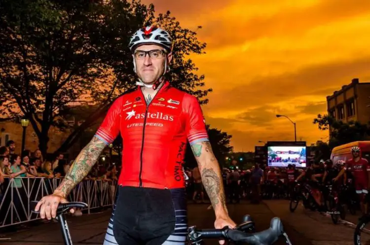
M 213 210 L 208 204 L 189 204 L 189 225 L 199 228 L 212 228 Z M 334 225 L 330 217 L 318 212 L 304 210 L 299 206 L 294 213 L 289 211 L 289 201 L 270 200 L 261 204 L 230 204 L 228 210 L 232 219 L 239 223 L 244 214 L 252 215 L 258 231 L 269 227 L 270 219 L 278 216 L 294 245 L 352 245 L 354 227 L 345 224 Z M 84 214 L 81 217 L 68 217 L 71 236 L 75 245 L 101 245 L 110 217 L 110 210 L 97 214 Z M 357 217 L 347 220 L 356 223 Z M 39 224 L 27 230 L 4 234 L 10 240 L 0 241 L 1 245 L 63 245 L 58 223 Z M 370 237 L 369 237 L 370 241 Z M 207 245 L 217 244 L 207 241 Z M 280 239 L 277 245 L 285 244 Z

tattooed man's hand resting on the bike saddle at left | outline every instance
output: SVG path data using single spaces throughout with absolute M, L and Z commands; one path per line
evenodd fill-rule
M 49 196 L 43 197 L 36 205 L 35 211 L 40 210 L 40 217 L 44 219 L 45 217 L 50 220 L 57 216 L 57 208 L 59 204 L 68 203 L 60 194 L 52 194 Z M 71 213 L 74 213 L 74 209 L 70 210 Z

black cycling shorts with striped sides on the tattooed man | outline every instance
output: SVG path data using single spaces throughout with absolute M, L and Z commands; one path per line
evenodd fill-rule
M 103 245 L 185 245 L 185 188 L 119 186 Z

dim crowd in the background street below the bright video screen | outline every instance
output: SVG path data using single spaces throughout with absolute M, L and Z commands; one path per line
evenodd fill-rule
M 241 170 L 237 165 L 223 168 L 222 179 L 227 203 L 240 203 L 240 200 L 246 199 L 258 204 L 262 198 L 288 198 L 289 190 L 301 172 L 302 169 L 297 169 L 294 164 L 269 167 L 256 163 L 247 170 Z M 198 167 L 187 169 L 185 174 L 188 176 L 188 198 L 196 203 L 205 203 Z

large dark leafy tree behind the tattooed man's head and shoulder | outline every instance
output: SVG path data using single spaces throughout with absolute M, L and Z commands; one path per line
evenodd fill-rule
M 153 5 L 125 0 L 3 0 L 0 11 L 0 113 L 27 117 L 43 154 L 50 127 L 69 127 L 61 118 L 71 104 L 92 103 L 96 110 L 72 128 L 58 151 L 72 146 L 117 96 L 135 86 L 127 44 L 145 23 L 170 28 L 180 52 L 169 77 L 207 103 L 202 98 L 211 89 L 199 89 L 204 77 L 194 75 L 197 68 L 185 58 L 203 53 L 205 43 L 169 12 L 155 18 Z

